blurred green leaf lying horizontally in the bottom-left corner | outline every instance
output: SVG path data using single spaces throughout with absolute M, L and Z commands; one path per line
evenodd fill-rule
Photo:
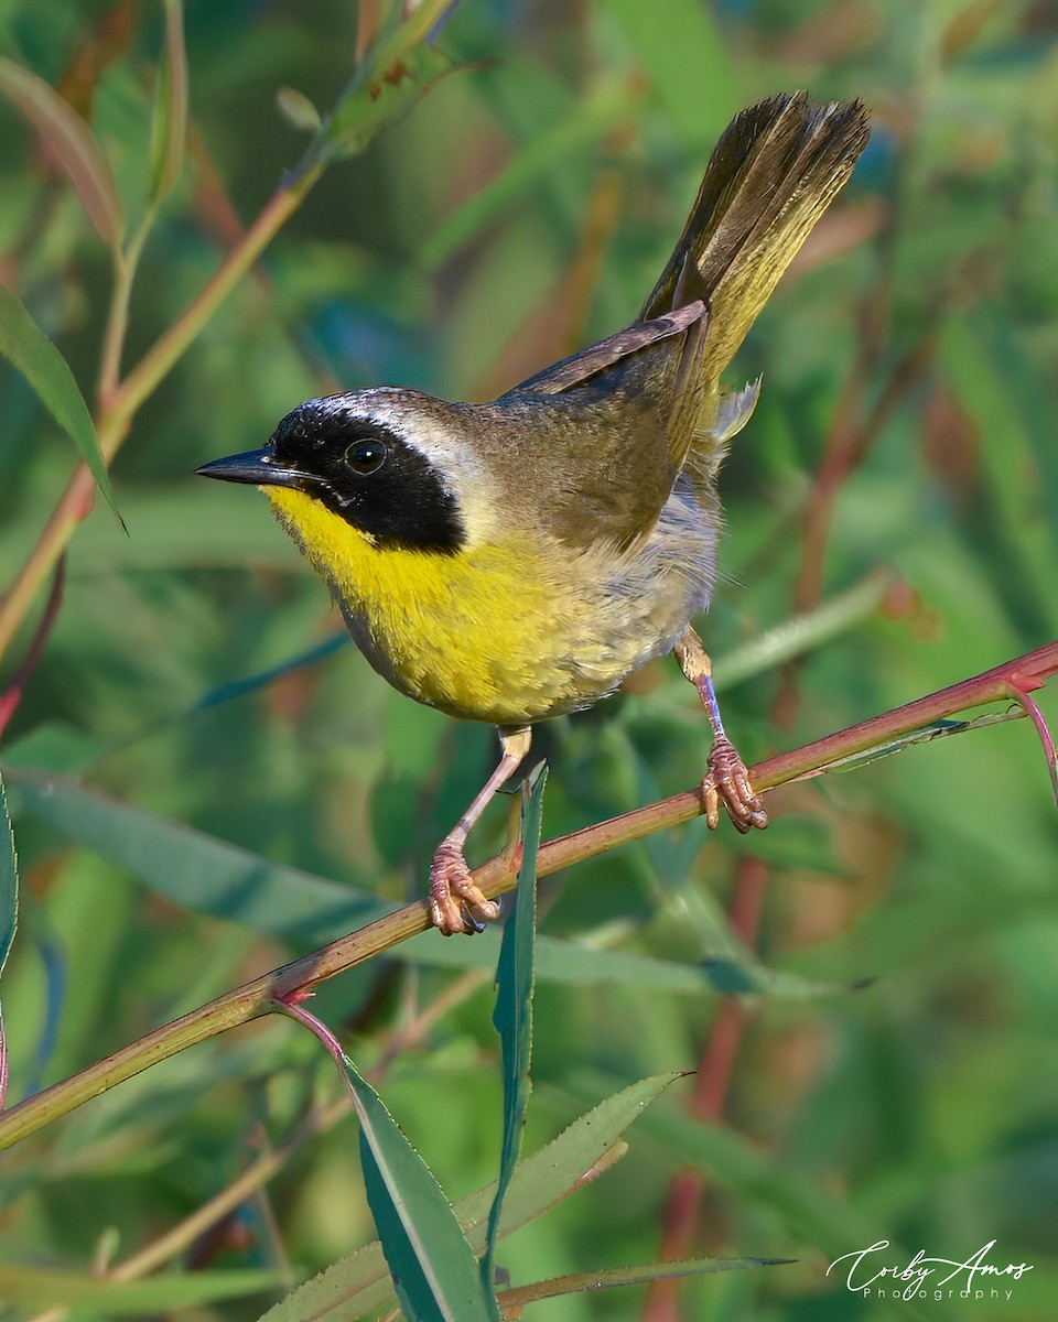
M 91 1276 L 60 1272 L 54 1266 L 16 1266 L 0 1263 L 0 1297 L 22 1307 L 85 1306 L 110 1317 L 168 1313 L 216 1300 L 234 1300 L 272 1289 L 278 1272 L 190 1272 L 151 1281 L 101 1281 Z

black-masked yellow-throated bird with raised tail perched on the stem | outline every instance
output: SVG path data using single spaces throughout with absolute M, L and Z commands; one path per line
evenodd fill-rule
M 719 378 L 869 132 L 860 102 L 753 106 L 626 330 L 492 403 L 394 386 L 309 399 L 263 449 L 198 469 L 264 489 L 394 687 L 499 726 L 500 763 L 430 870 L 444 935 L 499 914 L 463 846 L 532 726 L 591 706 L 652 657 L 674 652 L 705 703 L 709 825 L 721 805 L 739 830 L 767 825 L 690 628 L 715 579 L 717 472 L 759 385 L 725 393 Z

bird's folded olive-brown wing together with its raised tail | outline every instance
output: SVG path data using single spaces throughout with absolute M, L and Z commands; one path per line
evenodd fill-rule
M 688 457 L 712 498 L 715 471 L 753 408 L 719 377 L 869 135 L 864 107 L 804 93 L 743 111 L 721 137 L 643 320 L 530 377 L 492 406 L 578 543 L 648 533 Z

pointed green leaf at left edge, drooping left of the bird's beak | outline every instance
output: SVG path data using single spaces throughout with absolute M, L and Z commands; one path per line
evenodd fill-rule
M 0 59 L 0 66 L 3 63 Z M 0 353 L 15 364 L 60 427 L 74 439 L 99 490 L 116 513 L 95 424 L 74 374 L 21 301 L 4 288 L 0 288 Z

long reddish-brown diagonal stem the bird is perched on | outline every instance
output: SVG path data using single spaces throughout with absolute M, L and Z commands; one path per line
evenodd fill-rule
M 803 780 L 823 772 L 828 765 L 854 754 L 883 747 L 891 740 L 913 734 L 934 720 L 952 717 L 969 707 L 989 702 L 1010 701 L 1014 691 L 1026 693 L 1039 687 L 1058 672 L 1058 642 L 1050 642 L 1024 657 L 987 670 L 972 680 L 951 685 L 903 707 L 886 711 L 792 752 L 768 758 L 750 769 L 754 788 L 774 789 L 794 780 Z M 702 812 L 702 796 L 692 789 L 672 798 L 637 808 L 635 812 L 612 817 L 610 821 L 586 826 L 583 830 L 561 836 L 541 845 L 537 857 L 537 875 L 546 876 L 573 863 L 595 858 L 618 845 L 641 839 L 653 832 L 690 821 Z M 516 859 L 497 855 L 473 873 L 475 883 L 488 898 L 503 895 L 514 887 Z M 418 900 L 387 914 L 360 931 L 344 936 L 291 964 L 227 992 L 216 1001 L 192 1010 L 144 1038 L 115 1051 L 81 1073 L 53 1084 L 44 1092 L 19 1103 L 0 1116 L 0 1150 L 36 1133 L 61 1116 L 69 1114 L 91 1097 L 106 1092 L 124 1079 L 132 1077 L 148 1066 L 165 1060 L 185 1047 L 205 1042 L 206 1038 L 247 1023 L 274 1009 L 274 1002 L 290 997 L 299 988 L 311 986 L 343 973 L 356 964 L 425 932 L 430 925 L 426 902 Z

